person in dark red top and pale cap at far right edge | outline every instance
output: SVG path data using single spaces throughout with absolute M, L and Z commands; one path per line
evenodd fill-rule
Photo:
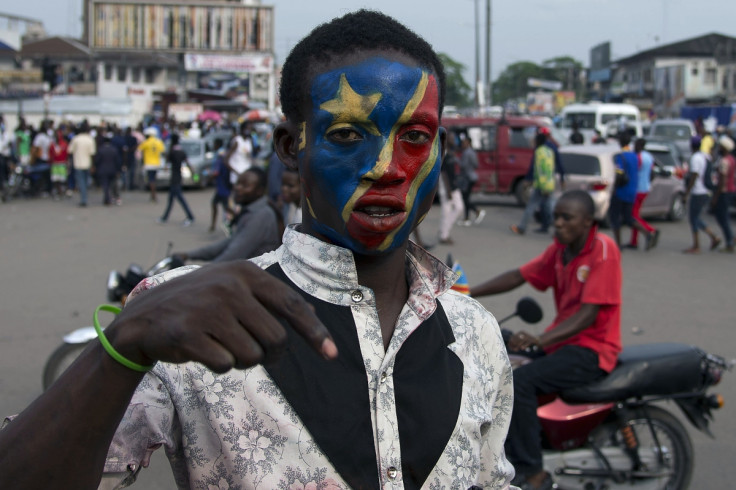
M 731 217 L 729 216 L 729 207 L 736 195 L 736 159 L 731 154 L 734 150 L 734 142 L 726 135 L 718 138 L 718 155 L 719 159 L 716 163 L 718 171 L 718 184 L 711 198 L 711 209 L 716 216 L 718 226 L 723 232 L 723 239 L 726 242 L 722 252 L 734 252 L 733 231 L 731 230 Z

